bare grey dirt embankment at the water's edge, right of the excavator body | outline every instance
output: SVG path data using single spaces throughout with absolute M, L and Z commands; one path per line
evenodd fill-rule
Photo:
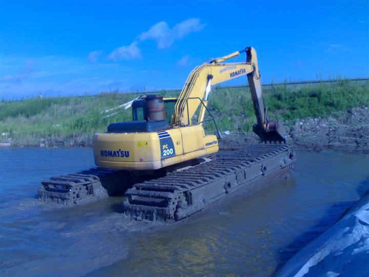
M 324 118 L 285 122 L 287 142 L 298 150 L 369 153 L 369 108 L 358 107 Z M 239 149 L 258 141 L 254 134 L 224 135 L 221 149 Z

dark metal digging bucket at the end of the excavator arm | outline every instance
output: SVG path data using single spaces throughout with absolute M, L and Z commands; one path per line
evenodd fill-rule
M 286 132 L 283 124 L 279 121 L 268 122 L 267 128 L 265 129 L 260 128 L 259 125 L 255 124 L 253 131 L 261 138 L 262 142 L 285 143 Z

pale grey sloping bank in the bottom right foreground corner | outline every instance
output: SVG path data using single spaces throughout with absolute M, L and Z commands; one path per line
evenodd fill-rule
M 326 272 L 326 276 L 367 276 L 368 215 L 369 189 L 332 226 L 298 250 L 274 275 L 308 277 Z

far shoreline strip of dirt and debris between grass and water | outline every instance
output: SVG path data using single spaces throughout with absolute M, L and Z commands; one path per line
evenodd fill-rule
M 333 113 L 328 117 L 304 118 L 284 122 L 286 143 L 295 150 L 339 151 L 349 153 L 369 153 L 369 109 L 366 106 Z M 3 135 L 3 134 L 2 134 Z M 28 144 L 20 144 L 12 138 L 1 140 L 0 149 L 19 147 L 92 147 L 92 134 L 81 134 L 63 141 L 59 137 L 27 139 Z M 37 143 L 35 143 L 35 141 Z M 240 134 L 223 131 L 219 141 L 220 150 L 239 150 L 258 143 L 253 133 Z

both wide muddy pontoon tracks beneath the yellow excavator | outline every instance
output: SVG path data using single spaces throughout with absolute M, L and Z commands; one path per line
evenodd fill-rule
M 79 204 L 125 192 L 124 213 L 141 221 L 173 223 L 257 181 L 288 174 L 296 161 L 284 144 L 256 144 L 242 151 L 199 159 L 169 173 L 91 168 L 42 182 L 38 198 Z

